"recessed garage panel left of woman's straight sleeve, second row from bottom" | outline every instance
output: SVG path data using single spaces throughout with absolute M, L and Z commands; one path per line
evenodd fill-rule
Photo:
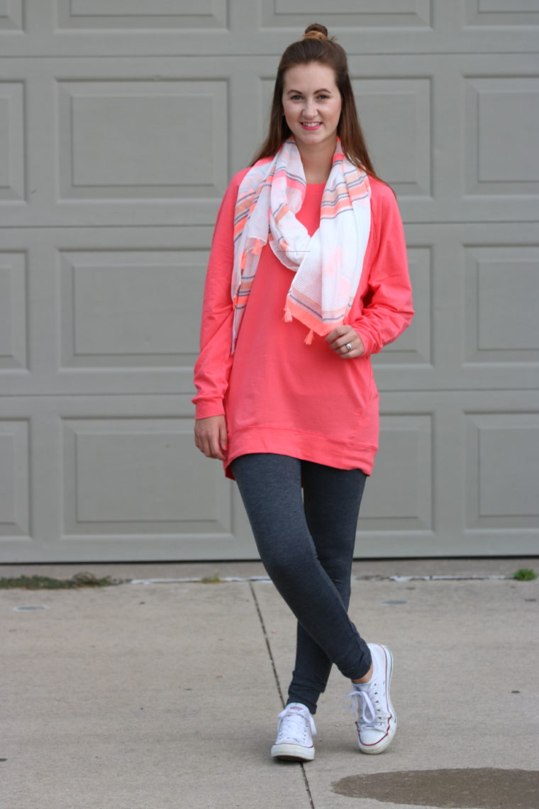
M 190 366 L 208 252 L 62 252 L 62 366 Z

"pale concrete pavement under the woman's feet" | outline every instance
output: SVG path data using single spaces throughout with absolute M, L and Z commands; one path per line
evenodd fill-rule
M 350 612 L 394 653 L 398 733 L 381 756 L 360 754 L 343 709 L 348 684 L 334 670 L 316 758 L 301 767 L 269 756 L 295 623 L 271 582 L 248 580 L 261 565 L 0 565 L 2 578 L 242 578 L 0 591 L 0 806 L 537 809 L 539 580 L 389 578 L 520 567 L 537 571 L 539 560 L 355 563 L 356 577 L 376 577 L 354 578 Z M 457 773 L 453 783 L 471 775 L 475 787 L 444 798 L 448 770 L 468 768 L 528 772 L 513 773 L 516 786 L 502 773 L 507 804 L 499 791 L 489 797 L 496 773 Z M 415 770 L 443 772 L 422 786 Z

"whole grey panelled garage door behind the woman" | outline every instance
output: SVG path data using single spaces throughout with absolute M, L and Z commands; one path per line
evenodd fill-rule
M 314 21 L 417 308 L 357 554 L 538 552 L 538 0 L 0 0 L 2 561 L 256 556 L 192 365 L 217 206 Z

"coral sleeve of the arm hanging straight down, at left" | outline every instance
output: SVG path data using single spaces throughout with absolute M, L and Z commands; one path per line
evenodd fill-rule
M 225 413 L 224 397 L 228 387 L 232 356 L 232 318 L 234 315 L 230 282 L 234 262 L 234 208 L 239 182 L 246 170 L 238 172 L 225 192 L 213 231 L 212 248 L 204 285 L 200 355 L 195 365 L 196 418 Z

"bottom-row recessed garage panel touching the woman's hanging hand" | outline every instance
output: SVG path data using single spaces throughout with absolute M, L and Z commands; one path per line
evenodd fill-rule
M 192 419 L 67 419 L 63 428 L 65 533 L 229 533 L 229 489 L 196 449 Z

